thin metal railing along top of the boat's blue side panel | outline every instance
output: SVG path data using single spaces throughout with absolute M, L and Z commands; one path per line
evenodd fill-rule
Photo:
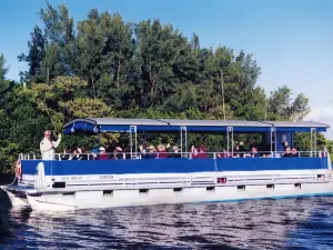
M 258 151 L 255 153 L 251 152 L 107 152 L 107 159 L 110 160 L 123 160 L 123 159 L 164 159 L 164 158 L 185 158 L 185 159 L 222 159 L 222 158 L 284 158 L 285 152 L 278 151 Z M 301 157 L 301 158 L 316 158 L 316 157 L 324 157 L 324 151 L 299 151 L 293 157 Z M 54 153 L 54 160 L 72 160 L 74 154 L 72 153 Z M 75 160 L 93 160 L 95 159 L 97 154 L 93 153 L 79 153 L 77 154 Z M 41 153 L 20 153 L 20 160 L 41 160 Z

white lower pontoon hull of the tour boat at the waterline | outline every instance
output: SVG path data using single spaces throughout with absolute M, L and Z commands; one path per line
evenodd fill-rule
M 114 208 L 150 204 L 171 204 L 191 202 L 223 202 L 248 199 L 280 199 L 304 196 L 333 194 L 332 182 L 295 184 L 252 184 L 241 189 L 232 187 L 199 187 L 149 189 L 149 190 L 112 190 L 112 192 L 77 191 L 57 194 L 29 196 L 29 204 L 34 210 L 74 210 L 90 208 Z

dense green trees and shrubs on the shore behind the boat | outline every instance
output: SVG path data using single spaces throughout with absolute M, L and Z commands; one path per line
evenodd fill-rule
M 120 13 L 92 9 L 75 21 L 64 4 L 49 2 L 38 14 L 42 26 L 32 28 L 27 51 L 18 56 L 29 66 L 19 82 L 6 78 L 6 51 L 0 51 L 2 172 L 12 171 L 19 153 L 38 152 L 46 129 L 57 134 L 75 118 L 301 120 L 310 112 L 309 99 L 283 83 L 268 96 L 256 83 L 261 69 L 252 54 L 203 48 L 195 33 L 186 38 L 158 19 L 131 23 Z M 189 139 L 190 147 L 204 142 L 210 151 L 225 147 L 221 134 Z M 179 136 L 147 140 L 176 144 Z M 260 134 L 235 136 L 235 142 L 259 140 Z M 129 139 L 103 134 L 102 143 L 127 149 Z M 58 151 L 95 144 L 95 137 L 70 136 Z M 297 133 L 295 144 L 310 150 L 310 134 Z M 319 134 L 317 147 L 332 152 L 333 143 Z

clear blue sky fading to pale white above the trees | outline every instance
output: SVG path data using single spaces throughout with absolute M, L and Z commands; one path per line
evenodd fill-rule
M 65 3 L 75 21 L 89 10 L 120 12 L 125 21 L 160 19 L 183 34 L 194 32 L 201 47 L 226 46 L 236 53 L 252 53 L 268 93 L 287 86 L 310 98 L 307 120 L 333 127 L 333 1 L 331 0 L 49 0 Z M 44 0 L 2 0 L 0 53 L 7 59 L 9 79 L 19 80 L 28 66 L 17 56 L 28 52 L 28 40 Z M 333 128 L 327 136 L 333 139 Z

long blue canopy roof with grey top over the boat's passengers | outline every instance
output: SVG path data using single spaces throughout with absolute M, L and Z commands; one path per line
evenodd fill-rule
M 75 119 L 63 127 L 64 133 L 82 132 L 269 132 L 272 129 L 286 132 L 326 131 L 330 126 L 312 121 L 243 121 L 243 120 L 178 120 L 178 119 Z

